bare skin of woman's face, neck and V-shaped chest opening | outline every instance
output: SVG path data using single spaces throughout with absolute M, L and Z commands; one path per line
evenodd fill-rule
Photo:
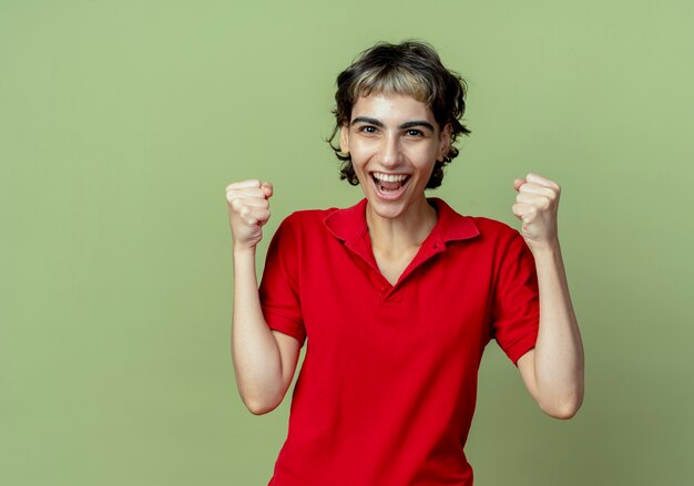
M 448 153 L 450 126 L 441 130 L 423 103 L 411 96 L 371 93 L 357 100 L 340 149 L 349 153 L 368 199 L 366 220 L 381 273 L 395 283 L 436 225 L 425 187 L 436 161 Z M 394 199 L 377 189 L 372 174 L 407 175 Z

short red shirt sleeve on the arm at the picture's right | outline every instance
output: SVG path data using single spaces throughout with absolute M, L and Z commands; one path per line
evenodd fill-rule
M 538 275 L 532 252 L 516 231 L 500 262 L 494 286 L 492 333 L 517 361 L 534 348 L 540 324 Z

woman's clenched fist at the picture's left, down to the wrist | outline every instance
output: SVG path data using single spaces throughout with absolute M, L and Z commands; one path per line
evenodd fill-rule
M 269 219 L 271 183 L 258 179 L 232 183 L 226 186 L 226 208 L 234 247 L 254 248 L 263 239 L 263 225 Z

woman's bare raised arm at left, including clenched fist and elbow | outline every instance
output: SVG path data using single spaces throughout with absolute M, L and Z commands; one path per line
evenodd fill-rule
M 273 186 L 244 180 L 226 187 L 234 244 L 234 311 L 232 360 L 236 386 L 246 407 L 256 415 L 276 409 L 284 399 L 299 354 L 299 342 L 272 331 L 261 309 L 255 272 L 255 248 L 269 219 Z

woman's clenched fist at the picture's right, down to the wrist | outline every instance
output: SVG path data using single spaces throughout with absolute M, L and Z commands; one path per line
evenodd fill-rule
M 521 235 L 531 251 L 544 249 L 559 241 L 557 213 L 561 187 L 553 180 L 538 174 L 528 174 L 524 179 L 516 179 L 518 190 L 516 204 L 511 208 L 522 221 Z

